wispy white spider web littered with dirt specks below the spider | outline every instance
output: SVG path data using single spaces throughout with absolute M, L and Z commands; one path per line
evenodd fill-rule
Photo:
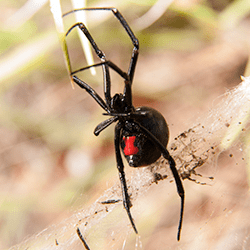
M 84 249 L 77 228 L 92 250 L 249 249 L 250 77 L 242 79 L 168 147 L 182 179 L 191 180 L 184 181 L 180 242 L 176 240 L 180 199 L 168 163 L 160 158 L 147 168 L 126 169 L 139 236 L 123 209 L 117 182 L 90 207 L 11 249 Z

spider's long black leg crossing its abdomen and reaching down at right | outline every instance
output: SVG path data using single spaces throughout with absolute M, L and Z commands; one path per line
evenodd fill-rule
M 182 185 L 182 181 L 180 179 L 180 176 L 178 174 L 178 171 L 176 169 L 176 164 L 172 156 L 169 154 L 168 150 L 161 144 L 161 142 L 150 132 L 148 131 L 145 127 L 143 127 L 141 124 L 135 122 L 138 126 L 140 126 L 141 130 L 145 133 L 145 135 L 148 136 L 148 138 L 151 139 L 151 141 L 161 150 L 162 156 L 168 160 L 170 169 L 173 173 L 176 187 L 177 187 L 177 192 L 181 198 L 181 211 L 180 211 L 180 221 L 179 221 L 179 226 L 178 226 L 178 234 L 177 234 L 177 240 L 180 240 L 180 235 L 181 235 L 181 228 L 182 228 L 182 221 L 183 221 L 183 212 L 184 212 L 184 201 L 185 201 L 185 192 L 184 188 Z

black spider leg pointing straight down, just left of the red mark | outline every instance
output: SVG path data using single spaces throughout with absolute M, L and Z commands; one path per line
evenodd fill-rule
M 120 135 L 121 135 L 121 130 L 123 128 L 123 123 L 119 122 L 115 126 L 115 154 L 116 154 L 116 163 L 117 163 L 117 169 L 119 171 L 119 178 L 121 181 L 121 188 L 122 188 L 122 196 L 123 196 L 123 206 L 127 211 L 130 223 L 135 231 L 136 234 L 138 234 L 138 231 L 136 229 L 136 226 L 134 224 L 132 215 L 130 213 L 130 207 L 132 207 L 130 197 L 128 195 L 128 188 L 127 188 L 127 183 L 126 183 L 126 178 L 125 178 L 125 173 L 124 173 L 124 165 L 122 162 L 122 157 L 121 157 L 121 151 L 120 151 Z

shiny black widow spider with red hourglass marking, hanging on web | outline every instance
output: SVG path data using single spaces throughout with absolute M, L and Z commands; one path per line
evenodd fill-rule
M 71 71 L 70 69 L 71 79 L 77 85 L 79 85 L 79 87 L 85 89 L 95 99 L 95 101 L 106 111 L 104 115 L 110 116 L 110 118 L 97 125 L 94 130 L 94 134 L 96 136 L 99 135 L 102 130 L 107 128 L 112 123 L 118 122 L 115 126 L 114 139 L 116 162 L 119 171 L 119 178 L 121 181 L 123 205 L 127 211 L 129 220 L 135 233 L 138 233 L 138 231 L 130 213 L 130 208 L 132 207 L 132 204 L 128 194 L 120 148 L 122 149 L 122 152 L 126 160 L 128 161 L 129 166 L 131 167 L 142 167 L 150 165 L 154 163 L 161 155 L 168 160 L 170 169 L 173 173 L 176 182 L 178 194 L 181 198 L 180 221 L 177 234 L 177 239 L 180 240 L 180 232 L 182 228 L 184 210 L 184 188 L 179 177 L 178 171 L 175 167 L 175 161 L 166 149 L 169 139 L 169 130 L 167 123 L 164 117 L 157 110 L 149 107 L 134 108 L 134 106 L 132 105 L 131 85 L 133 82 L 135 67 L 139 54 L 138 39 L 135 37 L 133 31 L 130 29 L 124 17 L 116 8 L 76 9 L 65 13 L 63 17 L 76 11 L 96 10 L 111 11 L 115 15 L 115 17 L 120 21 L 121 25 L 129 35 L 134 48 L 130 59 L 128 72 L 126 73 L 122 71 L 117 65 L 106 59 L 105 54 L 98 48 L 97 44 L 95 43 L 93 37 L 90 35 L 85 25 L 79 22 L 74 24 L 67 31 L 67 33 L 65 34 L 65 38 L 74 28 L 79 28 L 89 40 L 91 46 L 95 50 L 95 53 L 99 57 L 101 62 L 78 69 L 76 71 Z M 66 56 L 69 60 L 68 52 Z M 92 89 L 87 83 L 85 83 L 75 75 L 80 71 L 97 66 L 102 66 L 103 69 L 105 101 L 96 93 L 94 89 Z M 70 63 L 69 67 L 71 68 Z M 123 94 L 115 94 L 113 97 L 111 97 L 110 93 L 110 68 L 116 73 L 118 73 L 124 79 L 125 83 Z

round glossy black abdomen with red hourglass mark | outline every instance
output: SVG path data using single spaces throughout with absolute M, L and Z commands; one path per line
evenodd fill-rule
M 139 107 L 135 110 L 135 113 L 143 112 L 146 112 L 146 115 L 138 115 L 134 121 L 150 131 L 166 147 L 169 131 L 165 118 L 153 108 Z M 122 152 L 131 167 L 147 166 L 161 156 L 161 151 L 134 121 L 128 120 L 125 123 L 121 135 Z

